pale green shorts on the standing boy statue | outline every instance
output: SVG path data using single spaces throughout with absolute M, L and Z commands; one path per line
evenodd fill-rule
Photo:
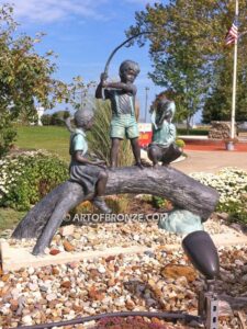
M 132 139 L 139 136 L 137 122 L 132 114 L 120 114 L 112 116 L 110 137 L 124 139 L 124 137 Z

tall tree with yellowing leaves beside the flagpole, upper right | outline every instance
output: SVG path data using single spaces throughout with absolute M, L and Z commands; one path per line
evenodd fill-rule
M 128 35 L 151 31 L 138 39 L 139 45 L 147 39 L 150 42 L 154 71 L 149 76 L 155 83 L 172 90 L 177 109 L 183 113 L 188 124 L 220 83 L 215 75 L 220 78 L 220 71 L 224 71 L 220 70 L 224 57 L 232 56 L 224 47 L 224 36 L 233 22 L 234 4 L 234 1 L 222 0 L 171 0 L 167 5 L 156 3 L 136 12 L 135 25 L 127 31 Z M 246 18 L 246 0 L 239 1 L 240 22 Z M 227 93 L 227 102 L 228 99 Z M 227 102 L 225 109 L 228 107 Z M 231 109 L 227 111 L 231 112 Z

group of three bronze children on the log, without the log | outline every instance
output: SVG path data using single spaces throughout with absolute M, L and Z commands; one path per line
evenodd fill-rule
M 96 90 L 97 99 L 110 100 L 112 120 L 110 126 L 111 151 L 110 167 L 117 167 L 117 156 L 121 140 L 125 137 L 131 140 L 135 164 L 143 169 L 141 161 L 141 148 L 138 145 L 137 126 L 137 89 L 133 83 L 139 73 L 139 66 L 133 60 L 125 60 L 120 66 L 120 81 L 110 82 L 105 73 L 101 75 L 100 83 Z M 153 113 L 153 139 L 147 149 L 148 158 L 154 168 L 161 161 L 162 166 L 169 164 L 177 159 L 181 151 L 175 144 L 176 127 L 171 123 L 175 114 L 175 103 L 160 99 L 157 109 Z M 111 213 L 103 200 L 108 181 L 106 167 L 103 161 L 91 161 L 87 157 L 88 144 L 86 131 L 93 124 L 93 112 L 89 109 L 78 110 L 75 114 L 76 131 L 70 136 L 69 166 L 70 181 L 79 183 L 85 194 L 93 193 L 92 203 L 102 212 Z

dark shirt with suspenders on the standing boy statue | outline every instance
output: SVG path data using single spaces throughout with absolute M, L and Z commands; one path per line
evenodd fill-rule
M 135 114 L 135 98 L 119 89 L 105 89 L 104 98 L 111 101 L 112 114 Z

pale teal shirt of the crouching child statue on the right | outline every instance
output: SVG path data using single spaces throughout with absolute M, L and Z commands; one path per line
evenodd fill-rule
M 153 125 L 153 144 L 159 144 L 164 147 L 168 147 L 176 139 L 176 126 L 172 123 L 164 121 L 160 128 L 155 128 Z

